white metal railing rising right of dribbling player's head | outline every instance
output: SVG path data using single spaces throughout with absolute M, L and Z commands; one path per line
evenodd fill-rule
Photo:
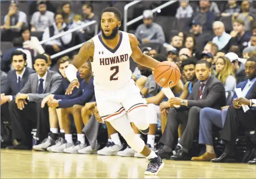
M 177 1 L 177 0 L 176 0 L 176 1 Z M 155 12 L 157 12 L 157 10 L 162 9 L 162 8 L 164 8 L 164 7 L 167 7 L 167 6 L 169 6 L 169 5 L 173 4 L 173 3 L 175 3 L 176 1 L 168 1 L 168 2 L 162 4 L 162 5 L 158 6 L 158 7 L 155 7 L 155 8 L 152 9 L 151 11 L 152 11 L 152 13 L 155 13 Z M 138 2 L 136 2 L 136 3 L 139 3 L 139 2 L 140 2 L 140 1 L 138 1 Z M 132 2 L 132 3 L 136 4 L 135 1 Z M 131 4 L 131 3 L 129 3 L 129 4 Z M 141 19 L 143 19 L 143 15 L 140 15 L 139 17 L 136 17 L 136 18 L 132 19 L 131 21 L 127 22 L 127 8 L 130 7 L 130 6 L 132 6 L 132 5 L 134 5 L 134 4 L 132 4 L 132 5 L 128 6 L 129 4 L 127 4 L 127 5 L 124 6 L 124 32 L 127 32 L 127 27 L 128 27 L 128 26 L 130 26 L 130 25 L 134 24 L 135 22 L 140 21 Z M 127 7 L 126 7 L 126 6 L 127 6 Z M 126 7 L 126 8 L 125 8 L 125 7 Z M 125 15 L 125 14 L 126 14 L 126 15 Z

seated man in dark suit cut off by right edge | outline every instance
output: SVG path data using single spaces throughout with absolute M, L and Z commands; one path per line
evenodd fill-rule
M 240 128 L 243 130 L 254 130 L 256 128 L 256 108 L 252 107 L 251 99 L 256 98 L 256 57 L 250 57 L 245 63 L 245 74 L 250 77 L 243 87 L 242 94 L 245 97 L 238 98 L 235 96 L 232 104 L 228 108 L 227 117 L 225 118 L 224 126 L 221 130 L 220 138 L 225 142 L 225 150 L 218 158 L 213 158 L 211 161 L 215 163 L 222 163 L 228 159 L 237 159 L 235 156 L 235 140 L 237 140 Z M 249 103 L 248 103 L 249 102 Z M 244 113 L 242 104 L 248 105 L 252 108 Z M 253 137 L 253 144 L 256 148 L 255 135 Z

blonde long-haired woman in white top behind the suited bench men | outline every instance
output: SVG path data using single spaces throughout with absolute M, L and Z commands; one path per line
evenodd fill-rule
M 237 82 L 235 80 L 233 66 L 229 58 L 219 57 L 217 58 L 215 64 L 217 72 L 216 77 L 218 77 L 218 79 L 220 79 L 220 81 L 224 84 L 225 91 L 231 91 L 234 93 Z

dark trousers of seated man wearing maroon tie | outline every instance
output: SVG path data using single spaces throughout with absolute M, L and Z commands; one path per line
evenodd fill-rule
M 179 143 L 190 150 L 194 138 L 199 132 L 199 114 L 200 107 L 191 108 L 170 108 L 168 120 L 160 142 L 171 148 L 176 144 L 178 138 L 178 127 L 180 124 L 186 126 Z

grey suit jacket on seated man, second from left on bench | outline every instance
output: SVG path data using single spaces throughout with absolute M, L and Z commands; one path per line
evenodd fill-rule
M 37 102 L 49 94 L 53 94 L 61 84 L 61 81 L 62 77 L 60 74 L 48 70 L 44 85 L 44 93 L 38 94 L 38 74 L 34 73 L 29 76 L 27 83 L 19 93 L 28 94 L 29 102 Z

